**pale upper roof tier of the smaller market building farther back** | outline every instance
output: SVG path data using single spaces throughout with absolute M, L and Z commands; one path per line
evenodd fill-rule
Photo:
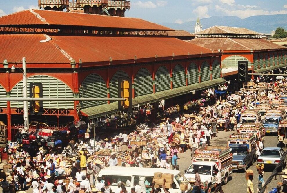
M 263 35 L 256 31 L 246 29 L 243 27 L 228 27 L 228 26 L 218 26 L 209 27 L 202 31 L 196 32 L 194 34 L 238 34 L 238 35 Z

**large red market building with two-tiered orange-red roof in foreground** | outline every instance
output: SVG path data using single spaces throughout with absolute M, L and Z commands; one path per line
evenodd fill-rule
M 161 100 L 171 107 L 191 100 L 192 91 L 226 82 L 221 52 L 169 37 L 169 31 L 142 19 L 97 14 L 30 9 L 3 16 L 0 60 L 8 68 L 0 67 L 0 97 L 23 96 L 22 57 L 28 84 L 41 83 L 43 97 L 117 98 L 118 78 L 130 77 L 133 106 L 153 105 L 155 116 Z M 23 102 L 0 107 L 11 140 L 23 127 Z M 112 101 L 43 101 L 43 114 L 29 119 L 64 127 L 117 112 Z

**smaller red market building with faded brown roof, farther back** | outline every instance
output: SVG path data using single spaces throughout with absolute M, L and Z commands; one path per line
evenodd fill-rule
M 195 33 L 190 40 L 196 44 L 222 53 L 222 76 L 237 79 L 238 61 L 248 61 L 248 70 L 266 73 L 286 66 L 287 49 L 284 46 L 261 39 L 255 31 L 227 26 L 213 26 Z

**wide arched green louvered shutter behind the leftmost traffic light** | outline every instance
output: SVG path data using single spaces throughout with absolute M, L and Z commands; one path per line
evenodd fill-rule
M 30 83 L 43 85 L 43 97 L 73 98 L 72 90 L 62 81 L 51 76 L 37 75 L 27 78 L 27 92 L 30 93 Z M 11 97 L 23 97 L 23 81 L 11 90 Z M 11 101 L 11 107 L 23 107 L 21 101 Z M 74 101 L 43 101 L 44 109 L 74 109 Z

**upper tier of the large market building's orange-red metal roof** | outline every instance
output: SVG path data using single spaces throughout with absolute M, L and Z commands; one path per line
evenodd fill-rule
M 173 30 L 138 18 L 104 16 L 95 14 L 59 12 L 49 10 L 24 10 L 0 17 L 0 25 L 72 25 L 143 30 Z

